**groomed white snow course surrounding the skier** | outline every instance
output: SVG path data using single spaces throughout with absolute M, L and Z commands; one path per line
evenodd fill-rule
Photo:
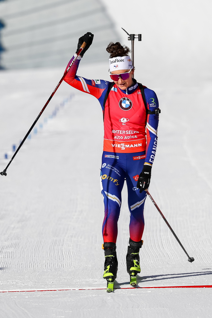
M 147 198 L 138 286 L 212 285 L 211 78 L 206 68 L 196 73 L 190 67 L 181 81 L 179 73 L 168 77 L 170 65 L 165 66 L 161 81 L 159 69 L 153 76 L 154 68 L 140 72 L 138 63 L 135 73 L 137 80 L 155 90 L 161 108 L 149 192 L 195 261 L 188 262 Z M 84 64 L 78 74 L 108 79 L 107 69 L 107 63 Z M 177 69 L 176 61 L 173 69 Z M 1 171 L 13 154 L 12 145 L 24 137 L 63 71 L 0 73 Z M 0 291 L 105 288 L 104 208 L 99 190 L 101 107 L 94 97 L 64 82 L 37 128 L 38 133 L 32 133 L 11 163 L 8 175 L 0 176 Z M 129 287 L 126 188 L 122 200 L 115 284 L 119 289 L 113 294 L 104 289 L 0 293 L 1 317 L 210 317 L 211 288 L 120 289 Z

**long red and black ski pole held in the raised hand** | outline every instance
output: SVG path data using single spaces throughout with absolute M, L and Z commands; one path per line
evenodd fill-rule
M 28 137 L 28 135 L 30 134 L 32 128 L 35 126 L 36 122 L 38 121 L 38 119 L 40 118 L 40 116 L 42 115 L 44 109 L 46 108 L 46 106 L 48 105 L 48 103 L 50 102 L 50 100 L 52 99 L 53 95 L 55 94 L 55 92 L 57 91 L 58 87 L 60 86 L 60 84 L 62 83 L 63 79 L 65 78 L 67 72 L 70 70 L 70 68 L 72 67 L 72 65 L 74 64 L 74 62 L 76 61 L 76 59 L 78 58 L 79 54 L 82 52 L 82 50 L 85 48 L 85 45 L 87 43 L 83 42 L 82 46 L 80 47 L 79 51 L 76 53 L 77 55 L 74 57 L 74 59 L 72 60 L 72 63 L 69 65 L 69 67 L 67 68 L 67 70 L 65 71 L 63 77 L 60 79 L 58 85 L 55 87 L 55 89 L 53 90 L 51 96 L 49 97 L 49 99 L 47 100 L 47 102 L 45 103 L 44 107 L 42 108 L 40 114 L 38 115 L 38 117 L 36 118 L 36 120 L 33 122 L 31 128 L 29 129 L 29 131 L 27 132 L 27 134 L 25 135 L 24 139 L 22 140 L 22 142 L 20 143 L 19 147 L 17 148 L 16 152 L 14 153 L 14 155 L 12 156 L 10 162 L 8 163 L 8 165 L 6 166 L 6 168 L 0 172 L 0 174 L 2 176 L 6 176 L 7 173 L 7 168 L 9 167 L 10 163 L 13 161 L 13 159 L 15 158 L 17 152 L 19 151 L 19 149 L 21 148 L 21 146 L 23 145 L 23 143 L 25 142 L 26 138 Z

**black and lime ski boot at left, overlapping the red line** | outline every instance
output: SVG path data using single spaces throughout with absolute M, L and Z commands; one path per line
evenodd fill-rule
M 105 251 L 105 265 L 103 278 L 107 280 L 107 293 L 113 292 L 113 284 L 118 270 L 118 260 L 116 257 L 116 245 L 112 242 L 105 242 L 102 245 Z

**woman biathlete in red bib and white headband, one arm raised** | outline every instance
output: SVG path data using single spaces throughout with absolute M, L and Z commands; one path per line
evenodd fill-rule
M 110 53 L 109 74 L 113 82 L 85 79 L 76 75 L 80 59 L 92 44 L 92 40 L 93 34 L 90 32 L 79 38 L 76 53 L 83 42 L 87 45 L 64 80 L 80 91 L 95 96 L 103 110 L 104 146 L 101 166 L 101 193 L 105 205 L 102 225 L 105 251 L 103 277 L 111 287 L 108 287 L 108 290 L 112 291 L 118 269 L 117 223 L 121 207 L 121 190 L 125 179 L 130 211 L 127 272 L 131 284 L 136 284 L 136 274 L 140 273 L 139 250 L 143 244 L 141 238 L 144 230 L 143 211 L 146 199 L 144 190 L 147 190 L 150 183 L 157 147 L 160 110 L 154 91 L 132 78 L 134 69 L 128 55 L 130 50 L 119 42 L 110 43 L 106 48 Z

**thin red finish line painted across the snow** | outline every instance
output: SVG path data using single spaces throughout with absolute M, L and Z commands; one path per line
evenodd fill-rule
M 211 288 L 212 285 L 194 285 L 194 286 L 148 286 L 148 287 L 118 287 L 113 289 L 147 289 L 147 288 Z M 34 289 L 34 290 L 5 290 L 0 291 L 0 293 L 23 293 L 23 292 L 57 292 L 57 291 L 64 291 L 64 290 L 98 290 L 98 289 L 105 289 L 106 288 L 67 288 L 67 289 Z

